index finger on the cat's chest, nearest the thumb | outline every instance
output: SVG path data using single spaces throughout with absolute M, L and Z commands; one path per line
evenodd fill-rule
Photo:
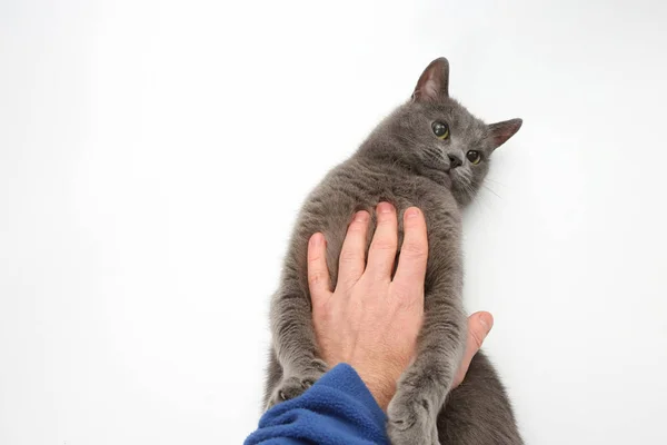
M 424 284 L 428 259 L 428 238 L 424 214 L 410 207 L 404 215 L 404 243 L 394 281 Z

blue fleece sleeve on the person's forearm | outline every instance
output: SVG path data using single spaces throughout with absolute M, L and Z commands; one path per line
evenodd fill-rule
M 245 445 L 389 444 L 386 422 L 359 375 L 340 364 L 299 397 L 266 412 Z

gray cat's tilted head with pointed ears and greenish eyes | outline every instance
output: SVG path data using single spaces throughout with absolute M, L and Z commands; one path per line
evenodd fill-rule
M 378 128 L 395 162 L 449 187 L 460 205 L 475 197 L 494 150 L 521 128 L 521 119 L 487 125 L 449 97 L 449 62 L 434 60 L 421 73 L 410 101 Z

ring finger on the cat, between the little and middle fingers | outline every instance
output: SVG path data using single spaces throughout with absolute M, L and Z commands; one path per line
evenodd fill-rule
M 348 227 L 347 236 L 342 241 L 340 261 L 338 265 L 339 280 L 342 283 L 357 283 L 366 267 L 366 234 L 368 231 L 368 211 L 358 211 Z

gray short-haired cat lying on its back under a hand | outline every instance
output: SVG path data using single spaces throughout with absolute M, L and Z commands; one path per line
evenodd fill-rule
M 461 207 L 481 186 L 492 151 L 519 130 L 521 120 L 484 123 L 449 97 L 448 81 L 447 59 L 434 60 L 411 99 L 307 198 L 271 300 L 267 407 L 301 394 L 327 370 L 311 324 L 308 239 L 317 231 L 325 234 L 335 286 L 352 215 L 361 209 L 375 215 L 377 204 L 385 200 L 399 212 L 399 246 L 402 211 L 410 206 L 424 211 L 429 244 L 417 358 L 402 374 L 387 409 L 391 443 L 522 444 L 505 388 L 482 353 L 472 359 L 464 383 L 450 390 L 467 333 Z

